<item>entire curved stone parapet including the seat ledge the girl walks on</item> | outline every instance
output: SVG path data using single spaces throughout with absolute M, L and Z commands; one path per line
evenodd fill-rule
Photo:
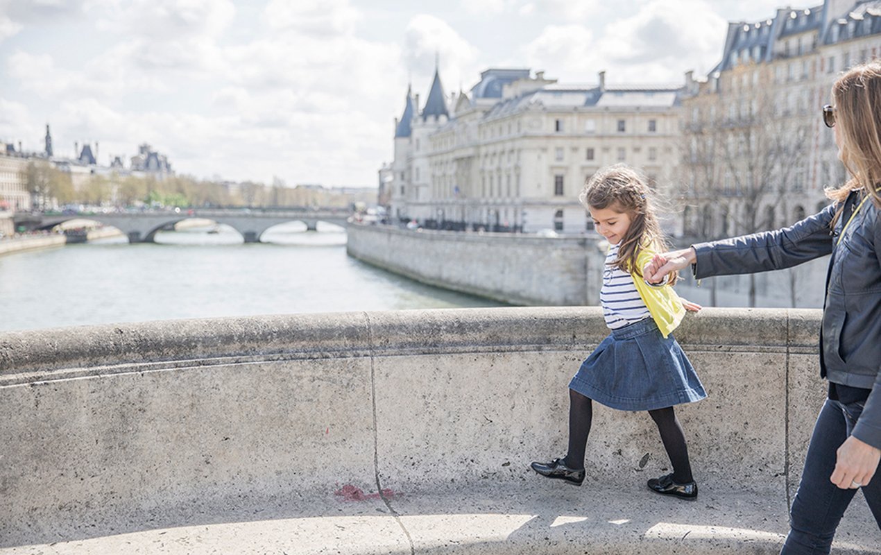
M 642 413 L 595 409 L 585 487 L 528 469 L 566 449 L 596 308 L 3 333 L 0 553 L 775 553 L 824 396 L 818 323 L 686 319 L 710 394 L 677 410 L 695 503 L 645 490 L 668 462 Z M 879 545 L 858 494 L 836 552 Z

